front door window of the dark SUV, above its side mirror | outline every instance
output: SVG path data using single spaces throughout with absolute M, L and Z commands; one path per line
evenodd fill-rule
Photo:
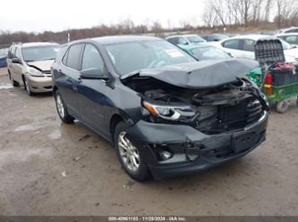
M 86 44 L 81 62 L 81 70 L 87 69 L 98 69 L 102 73 L 105 72 L 105 63 L 97 47 L 91 44 Z

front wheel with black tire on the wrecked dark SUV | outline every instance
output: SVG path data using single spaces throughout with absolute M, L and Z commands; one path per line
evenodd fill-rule
M 149 169 L 138 147 L 126 138 L 127 128 L 123 121 L 115 127 L 114 141 L 118 160 L 130 177 L 139 181 L 147 180 L 150 177 Z

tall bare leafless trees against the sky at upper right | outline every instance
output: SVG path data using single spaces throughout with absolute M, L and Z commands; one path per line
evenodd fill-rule
M 201 16 L 205 26 L 249 27 L 274 21 L 277 29 L 297 26 L 297 0 L 206 0 Z

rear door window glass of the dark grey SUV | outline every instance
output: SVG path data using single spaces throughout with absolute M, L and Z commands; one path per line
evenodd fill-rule
M 76 45 L 72 45 L 69 50 L 68 53 L 65 54 L 67 55 L 67 59 L 66 59 L 66 63 L 65 61 L 64 64 L 69 67 L 72 68 L 73 70 L 80 70 L 81 68 L 81 49 L 82 49 L 82 44 L 76 44 Z

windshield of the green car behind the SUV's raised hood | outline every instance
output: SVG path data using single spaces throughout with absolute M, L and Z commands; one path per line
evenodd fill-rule
M 228 59 L 231 56 L 214 46 L 204 46 L 192 49 L 193 55 L 198 60 Z

